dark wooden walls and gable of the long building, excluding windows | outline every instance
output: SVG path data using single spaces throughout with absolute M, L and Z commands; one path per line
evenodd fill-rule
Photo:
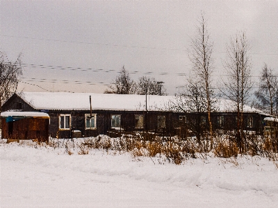
M 4 105 L 2 110 L 23 110 L 23 111 L 40 111 L 35 110 L 31 105 L 25 103 L 22 98 L 14 94 Z M 90 114 L 90 111 L 85 110 L 49 110 L 50 125 L 49 125 L 49 135 L 51 137 L 57 138 L 71 138 L 72 130 L 80 130 L 81 135 L 84 137 L 95 137 L 97 135 L 108 135 L 110 132 L 117 132 L 117 130 L 111 128 L 111 115 L 120 114 L 121 115 L 121 128 L 125 132 L 133 131 L 154 131 L 161 135 L 186 135 L 190 128 L 193 126 L 189 125 L 194 119 L 198 119 L 199 116 L 206 116 L 206 125 L 203 130 L 208 128 L 207 114 L 195 114 L 195 113 L 179 113 L 179 112 L 127 112 L 127 111 L 113 111 L 113 110 L 93 110 L 92 114 L 97 114 L 97 129 L 96 130 L 85 130 L 85 114 Z M 72 125 L 70 130 L 59 130 L 59 115 L 60 114 L 70 114 L 72 118 Z M 144 115 L 144 128 L 136 129 L 136 114 Z M 158 115 L 165 115 L 165 128 L 158 128 Z M 186 123 L 179 120 L 179 116 L 186 116 Z M 224 125 L 220 127 L 218 125 L 218 116 L 224 116 Z M 247 128 L 247 116 L 253 116 L 254 125 L 252 128 Z M 257 113 L 244 113 L 244 129 L 252 130 L 256 132 L 261 132 L 263 130 L 263 118 Z M 235 112 L 213 112 L 211 114 L 211 119 L 213 123 L 213 130 L 235 130 L 236 129 L 236 113 Z M 147 121 L 147 123 L 146 123 Z M 195 121 L 194 121 L 195 122 Z M 122 130 L 120 130 L 122 131 Z

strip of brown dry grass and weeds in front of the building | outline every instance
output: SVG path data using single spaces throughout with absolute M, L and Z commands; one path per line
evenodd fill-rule
M 49 144 L 32 142 L 28 145 L 34 148 L 48 146 L 62 148 L 67 155 L 88 155 L 90 150 L 99 149 L 107 153 L 131 153 L 135 158 L 156 157 L 174 164 L 183 164 L 190 158 L 220 157 L 228 159 L 235 166 L 238 155 L 250 155 L 267 157 L 278 168 L 278 139 L 276 135 L 245 135 L 238 146 L 234 132 L 215 135 L 213 149 L 210 149 L 210 139 L 201 137 L 199 142 L 195 137 L 157 137 L 155 135 L 122 135 L 119 138 L 111 138 L 106 135 L 85 139 L 49 139 Z

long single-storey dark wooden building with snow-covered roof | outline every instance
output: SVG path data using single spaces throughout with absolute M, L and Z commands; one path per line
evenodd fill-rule
M 135 131 L 194 135 L 202 131 L 200 128 L 207 128 L 206 113 L 173 110 L 175 101 L 174 96 L 24 92 L 13 94 L 2 110 L 47 113 L 49 135 L 57 138 L 113 136 L 117 132 Z M 269 115 L 245 105 L 244 129 L 263 130 L 266 116 Z M 218 101 L 211 118 L 214 129 L 231 130 L 236 126 L 231 101 Z

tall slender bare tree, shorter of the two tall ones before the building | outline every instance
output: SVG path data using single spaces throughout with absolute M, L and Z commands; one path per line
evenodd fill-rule
M 224 68 L 227 70 L 227 80 L 224 80 L 222 93 L 236 103 L 237 112 L 237 144 L 243 148 L 243 106 L 250 98 L 253 86 L 251 79 L 250 44 L 244 32 L 231 37 L 227 45 L 227 60 Z

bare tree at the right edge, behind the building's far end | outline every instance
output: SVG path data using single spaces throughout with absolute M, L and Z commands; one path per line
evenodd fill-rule
M 260 101 L 256 103 L 256 107 L 271 115 L 277 114 L 275 111 L 275 105 L 277 105 L 277 88 L 277 74 L 265 64 L 263 71 L 261 71 L 259 89 L 255 92 L 256 98 Z

